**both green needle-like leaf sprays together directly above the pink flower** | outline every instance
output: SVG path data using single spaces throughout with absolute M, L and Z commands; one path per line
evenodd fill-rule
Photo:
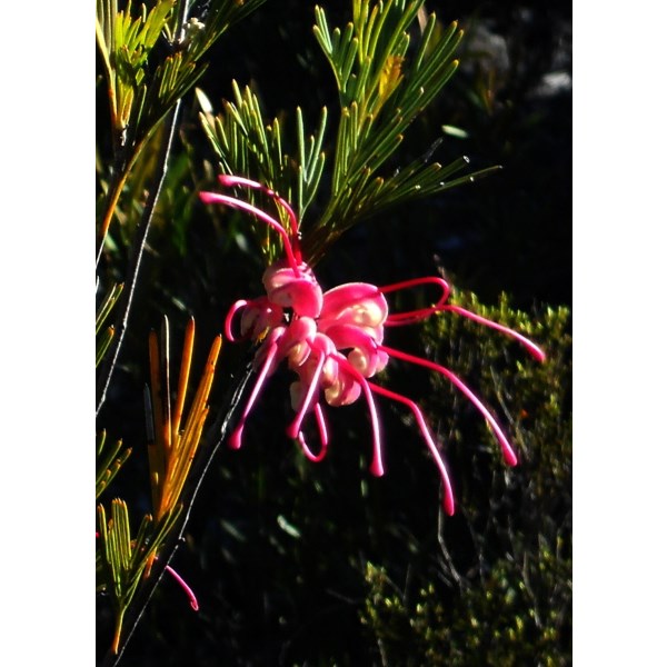
M 422 4 L 422 0 L 402 0 L 371 7 L 368 1 L 356 0 L 352 21 L 345 30 L 331 30 L 326 12 L 316 7 L 313 32 L 334 71 L 340 109 L 329 158 L 334 165 L 328 203 L 315 222 L 302 226 L 303 250 L 311 265 L 340 235 L 365 219 L 472 178 L 448 180 L 466 167 L 466 158 L 447 166 L 419 159 L 391 176 L 378 175 L 402 143 L 406 130 L 458 66 L 451 58 L 462 36 L 456 23 L 442 30 L 434 13 L 416 36 Z M 408 56 L 411 40 L 417 43 Z M 316 131 L 306 140 L 302 113 L 297 109 L 297 137 L 291 142 L 296 151 L 290 155 L 282 148 L 283 123 L 278 118 L 270 122 L 263 118 L 259 99 L 249 88 L 241 92 L 233 82 L 232 89 L 235 101 L 226 102 L 225 112 L 217 117 L 200 96 L 206 108 L 202 125 L 223 172 L 248 175 L 280 192 L 295 202 L 303 220 L 327 162 L 321 147 L 330 112 L 322 109 Z M 263 236 L 261 248 L 270 262 L 278 249 L 266 231 Z

